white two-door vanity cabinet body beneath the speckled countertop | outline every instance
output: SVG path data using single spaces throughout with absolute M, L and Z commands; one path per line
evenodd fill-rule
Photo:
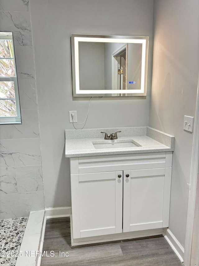
M 70 158 L 72 238 L 168 227 L 172 153 Z

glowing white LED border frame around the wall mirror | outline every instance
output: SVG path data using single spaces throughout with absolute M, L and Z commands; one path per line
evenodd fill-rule
M 140 89 L 108 89 L 108 90 L 81 90 L 79 85 L 79 50 L 78 43 L 85 42 L 121 42 L 121 43 L 141 43 L 142 44 L 142 64 L 141 64 L 141 88 Z M 146 96 L 147 89 L 147 67 L 148 67 L 148 36 L 116 36 L 116 35 L 87 35 L 71 34 L 72 49 L 72 87 L 73 97 L 89 96 Z M 112 94 L 112 95 L 110 95 Z M 114 95 L 115 94 L 115 95 Z M 118 95 L 125 94 L 125 95 Z

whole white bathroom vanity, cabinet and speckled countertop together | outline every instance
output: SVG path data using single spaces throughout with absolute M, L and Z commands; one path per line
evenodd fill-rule
M 119 130 L 117 140 L 100 134 Z M 169 226 L 173 136 L 149 127 L 65 134 L 72 245 L 100 242 L 109 235 L 109 240 L 155 235 Z

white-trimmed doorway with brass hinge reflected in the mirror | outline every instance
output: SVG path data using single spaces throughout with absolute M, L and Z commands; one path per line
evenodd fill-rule
M 112 54 L 112 89 L 127 89 L 128 44 Z M 118 94 L 124 96 L 125 94 Z

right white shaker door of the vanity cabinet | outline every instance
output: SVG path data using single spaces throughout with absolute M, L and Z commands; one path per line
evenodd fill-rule
M 171 168 L 124 171 L 123 232 L 169 226 Z

